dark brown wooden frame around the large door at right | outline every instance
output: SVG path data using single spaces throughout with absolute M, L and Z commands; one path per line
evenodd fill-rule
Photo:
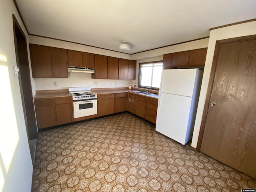
M 205 99 L 205 103 L 204 103 L 204 111 L 203 111 L 203 115 L 202 115 L 202 121 L 201 121 L 201 125 L 200 125 L 198 141 L 197 141 L 197 145 L 196 145 L 196 151 L 200 152 L 200 149 L 201 149 L 204 128 L 205 128 L 206 118 L 207 118 L 209 104 L 210 104 L 210 98 L 212 95 L 212 87 L 213 87 L 217 62 L 218 62 L 220 45 L 226 44 L 226 43 L 232 43 L 232 42 L 255 40 L 255 39 L 256 39 L 256 35 L 249 35 L 249 36 L 242 36 L 242 37 L 229 38 L 229 39 L 223 39 L 223 40 L 216 41 L 214 56 L 213 56 L 213 60 L 212 60 L 212 68 L 211 68 L 211 72 L 210 72 L 210 78 L 209 78 L 209 83 L 208 83 L 208 88 L 207 88 L 207 93 L 206 93 L 206 99 Z

